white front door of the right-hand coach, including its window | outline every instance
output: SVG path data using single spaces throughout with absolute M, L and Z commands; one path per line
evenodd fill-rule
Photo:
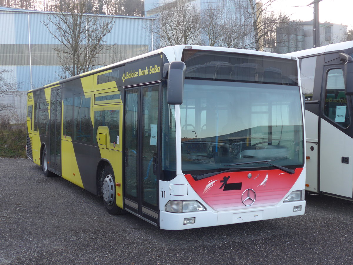
M 352 198 L 353 139 L 351 107 L 345 95 L 343 71 L 324 68 L 320 119 L 320 191 Z M 349 99 L 350 97 L 348 97 Z

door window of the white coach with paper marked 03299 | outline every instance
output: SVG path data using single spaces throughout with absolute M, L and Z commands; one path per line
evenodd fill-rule
M 343 128 L 349 126 L 350 119 L 342 69 L 331 69 L 327 73 L 324 115 Z

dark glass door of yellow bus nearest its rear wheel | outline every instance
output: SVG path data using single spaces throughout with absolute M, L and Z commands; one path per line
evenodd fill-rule
M 50 171 L 61 175 L 61 91 L 50 93 Z

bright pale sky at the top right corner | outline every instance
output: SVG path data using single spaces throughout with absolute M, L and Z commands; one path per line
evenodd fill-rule
M 294 20 L 312 20 L 313 5 L 307 6 L 313 0 L 276 0 L 271 7 L 275 11 L 282 11 L 286 15 L 291 14 Z M 331 22 L 347 25 L 353 29 L 353 0 L 322 0 L 319 2 L 320 22 Z

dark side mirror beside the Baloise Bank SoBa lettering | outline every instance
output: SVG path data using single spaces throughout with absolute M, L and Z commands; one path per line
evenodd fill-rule
M 169 64 L 167 102 L 170 105 L 183 104 L 185 70 L 186 66 L 182 61 L 172 61 Z

